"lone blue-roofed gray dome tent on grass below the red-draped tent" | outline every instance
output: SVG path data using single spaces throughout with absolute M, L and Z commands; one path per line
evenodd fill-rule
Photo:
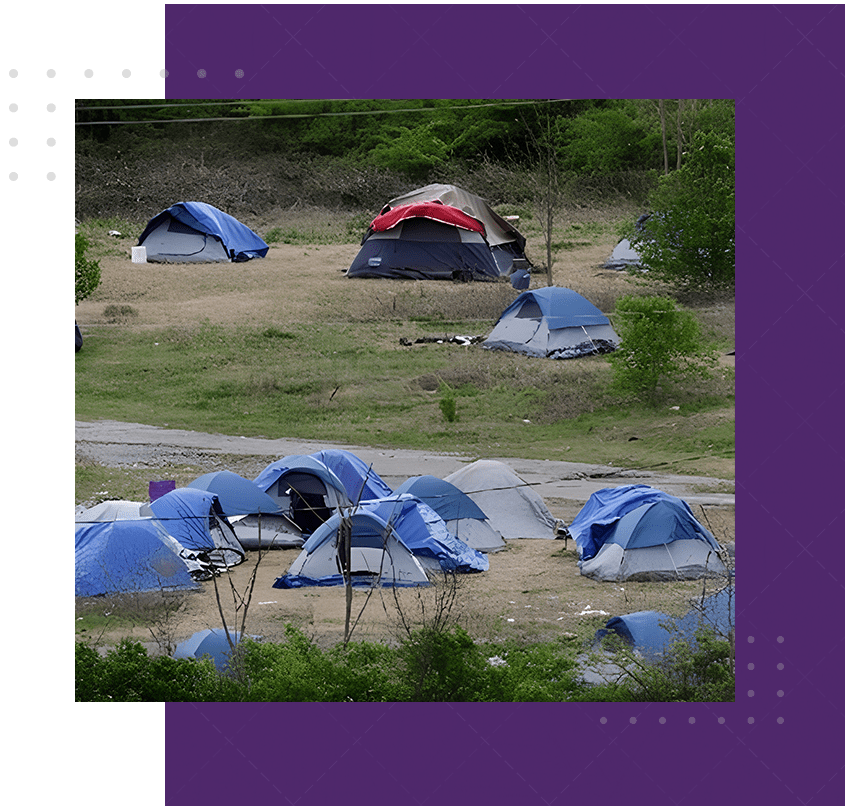
M 542 287 L 521 293 L 483 341 L 485 349 L 562 360 L 619 346 L 610 319 L 580 293 Z

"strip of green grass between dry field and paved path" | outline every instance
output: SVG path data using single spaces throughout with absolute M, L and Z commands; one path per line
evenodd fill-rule
M 435 316 L 408 322 L 421 334 L 451 326 L 450 334 L 482 324 Z M 734 452 L 731 369 L 664 407 L 628 407 L 608 393 L 611 372 L 601 358 L 555 362 L 478 345 L 402 346 L 400 332 L 390 322 L 286 331 L 93 327 L 75 359 L 76 416 L 673 472 L 695 472 L 698 457 L 706 474 L 731 477 L 723 474 L 730 464 L 716 464 Z M 441 409 L 448 396 L 456 404 L 452 422 Z

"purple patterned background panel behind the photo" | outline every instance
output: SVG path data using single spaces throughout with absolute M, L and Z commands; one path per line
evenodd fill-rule
M 844 24 L 165 6 L 166 98 L 734 98 L 740 574 L 735 703 L 170 704 L 166 805 L 844 803 Z

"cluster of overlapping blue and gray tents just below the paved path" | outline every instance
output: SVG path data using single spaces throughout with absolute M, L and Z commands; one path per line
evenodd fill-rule
M 347 450 L 290 455 L 253 480 L 207 473 L 151 503 L 105 501 L 76 516 L 77 595 L 193 587 L 247 549 L 300 548 L 276 588 L 428 585 L 486 571 L 505 538 L 553 537 L 544 501 L 506 465 L 392 489 Z M 342 539 L 344 539 L 342 542 Z M 168 564 L 166 564 L 168 562 Z

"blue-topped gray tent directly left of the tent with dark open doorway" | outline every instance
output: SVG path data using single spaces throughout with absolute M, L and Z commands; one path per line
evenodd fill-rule
M 300 528 L 282 507 L 248 478 L 220 470 L 199 476 L 189 487 L 219 498 L 222 513 L 246 550 L 293 548 L 304 541 Z

